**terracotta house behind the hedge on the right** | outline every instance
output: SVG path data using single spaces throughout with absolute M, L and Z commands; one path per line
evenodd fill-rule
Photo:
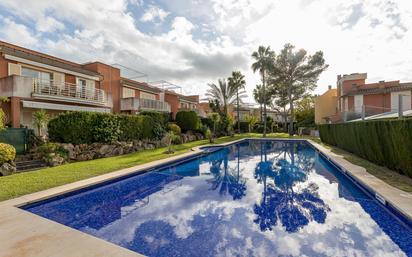
M 366 83 L 366 79 L 367 73 L 338 75 L 337 111 L 329 116 L 331 122 L 411 109 L 412 83 L 399 80 Z

